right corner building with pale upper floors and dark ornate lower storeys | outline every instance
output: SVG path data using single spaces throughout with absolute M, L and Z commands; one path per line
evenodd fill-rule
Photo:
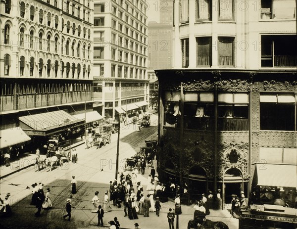
M 175 0 L 174 22 L 173 69 L 155 71 L 161 178 L 219 205 L 296 193 L 296 0 Z

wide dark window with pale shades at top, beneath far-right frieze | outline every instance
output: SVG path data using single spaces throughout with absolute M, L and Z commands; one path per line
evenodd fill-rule
M 294 94 L 260 95 L 260 130 L 294 131 L 295 127 Z

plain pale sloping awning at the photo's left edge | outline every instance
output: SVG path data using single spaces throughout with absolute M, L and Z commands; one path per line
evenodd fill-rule
M 0 149 L 31 140 L 20 127 L 0 131 Z

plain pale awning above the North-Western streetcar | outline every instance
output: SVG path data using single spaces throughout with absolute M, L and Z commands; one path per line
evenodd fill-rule
M 261 186 L 297 187 L 297 165 L 256 164 L 253 183 Z

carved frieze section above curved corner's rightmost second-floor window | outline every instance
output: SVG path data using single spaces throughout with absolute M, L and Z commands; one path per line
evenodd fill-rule
M 220 79 L 217 81 L 218 91 L 249 92 L 250 82 L 244 79 Z

